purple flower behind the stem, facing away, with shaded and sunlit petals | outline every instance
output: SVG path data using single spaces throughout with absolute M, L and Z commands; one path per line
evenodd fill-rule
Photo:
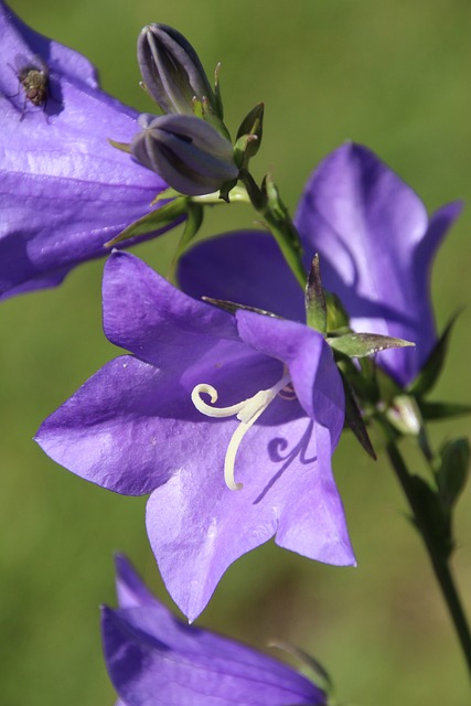
M 378 354 L 402 385 L 415 378 L 437 342 L 430 268 L 460 210 L 454 202 L 428 218 L 417 194 L 373 152 L 353 143 L 324 159 L 301 196 L 296 225 L 306 265 L 320 254 L 323 285 L 340 297 L 352 328 L 416 343 Z M 196 246 L 181 263 L 180 282 L 194 297 L 303 320 L 300 288 L 272 238 L 258 232 Z

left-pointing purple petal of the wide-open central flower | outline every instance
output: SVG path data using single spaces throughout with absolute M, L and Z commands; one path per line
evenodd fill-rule
M 197 340 L 188 350 L 196 352 Z M 191 364 L 186 356 L 185 367 L 176 355 L 169 346 L 161 370 L 133 356 L 111 361 L 41 425 L 38 443 L 77 475 L 128 495 L 149 493 L 174 473 L 197 478 L 208 463 L 223 468 L 238 422 L 199 413 L 193 388 L 214 385 L 220 404 L 232 405 L 277 382 L 281 365 L 224 340 Z

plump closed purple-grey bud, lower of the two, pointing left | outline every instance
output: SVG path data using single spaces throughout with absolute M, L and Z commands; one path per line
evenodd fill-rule
M 232 145 L 211 125 L 189 115 L 140 117 L 143 128 L 131 142 L 132 156 L 188 196 L 200 196 L 235 182 Z

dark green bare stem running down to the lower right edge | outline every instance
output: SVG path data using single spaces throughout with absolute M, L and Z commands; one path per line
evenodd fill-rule
M 406 463 L 399 452 L 399 449 L 397 448 L 396 442 L 394 440 L 389 440 L 386 445 L 386 449 L 389 461 L 396 473 L 396 478 L 399 481 L 400 486 L 407 498 L 407 501 L 413 511 L 415 523 L 419 528 L 424 543 L 426 545 L 435 571 L 435 576 L 440 586 L 441 593 L 447 603 L 451 620 L 458 634 L 458 639 L 461 643 L 464 660 L 468 665 L 469 676 L 471 678 L 471 633 L 458 593 L 458 589 L 454 585 L 449 560 L 443 556 L 442 550 L 437 544 L 436 535 L 433 533 L 433 528 L 430 526 L 429 517 L 422 511 L 422 506 L 418 502 L 417 494 L 414 491 L 411 475 L 407 470 Z

